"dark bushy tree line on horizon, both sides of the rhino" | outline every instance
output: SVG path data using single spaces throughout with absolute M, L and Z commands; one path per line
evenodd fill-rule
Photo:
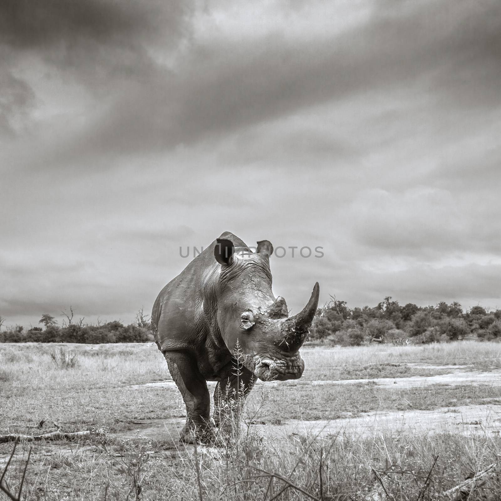
M 39 324 L 25 330 L 16 325 L 0 332 L 0 343 L 146 343 L 153 341 L 149 317 L 141 308 L 135 322 L 124 325 L 118 320 L 98 325 L 73 320 L 74 312 L 61 312 L 59 326 L 55 317 L 43 314 Z M 0 317 L 0 330 L 5 319 Z M 501 310 L 487 311 L 474 306 L 463 311 L 457 302 L 440 302 L 436 306 L 419 307 L 412 303 L 401 306 L 387 296 L 375 307 L 349 308 L 346 301 L 332 297 L 317 310 L 310 328 L 310 341 L 326 341 L 343 346 L 363 343 L 413 344 L 460 340 L 501 339 Z

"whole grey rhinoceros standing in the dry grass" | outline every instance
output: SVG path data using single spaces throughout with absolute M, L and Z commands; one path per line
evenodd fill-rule
M 225 400 L 245 397 L 257 378 L 284 381 L 303 374 L 299 348 L 317 311 L 320 288 L 317 282 L 306 307 L 289 317 L 285 299 L 272 292 L 272 254 L 268 240 L 259 241 L 253 252 L 224 232 L 161 290 L 153 305 L 155 342 L 186 404 L 183 441 L 212 441 L 221 409 L 230 403 Z M 207 381 L 217 381 L 213 422 Z

